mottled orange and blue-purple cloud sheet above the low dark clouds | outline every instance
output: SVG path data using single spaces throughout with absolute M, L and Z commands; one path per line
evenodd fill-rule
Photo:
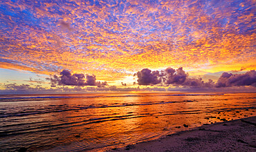
M 143 68 L 256 66 L 255 1 L 59 4 L 1 2 L 1 68 L 46 75 L 68 69 L 115 82 Z

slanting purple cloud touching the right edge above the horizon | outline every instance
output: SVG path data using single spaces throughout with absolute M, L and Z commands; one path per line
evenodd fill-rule
M 227 86 L 255 86 L 256 87 L 256 72 L 250 70 L 244 74 L 222 73 L 219 77 L 216 87 Z

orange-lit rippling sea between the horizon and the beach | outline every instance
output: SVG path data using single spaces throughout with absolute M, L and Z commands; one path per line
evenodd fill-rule
M 255 108 L 255 93 L 1 95 L 0 149 L 84 151 L 122 146 L 223 119 L 255 116 Z

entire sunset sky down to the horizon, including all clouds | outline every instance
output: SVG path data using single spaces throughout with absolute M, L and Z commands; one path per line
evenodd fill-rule
M 255 4 L 0 1 L 0 93 L 253 91 Z

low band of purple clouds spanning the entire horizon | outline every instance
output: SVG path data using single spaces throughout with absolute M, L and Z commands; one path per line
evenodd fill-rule
M 97 93 L 123 91 L 181 91 L 181 92 L 255 92 L 256 71 L 250 70 L 244 74 L 222 73 L 216 83 L 211 79 L 204 82 L 201 78 L 189 77 L 183 68 L 166 68 L 165 70 L 149 70 L 144 68 L 136 74 L 140 86 L 122 87 L 109 86 L 107 82 L 96 81 L 95 75 L 84 75 L 62 70 L 60 75 L 46 78 L 51 81 L 51 88 L 42 84 L 0 84 L 5 90 L 0 94 L 23 93 Z M 33 80 L 32 78 L 30 80 Z M 26 81 L 28 82 L 28 81 Z M 30 82 L 30 81 L 29 81 Z M 33 81 L 34 82 L 34 81 Z M 136 85 L 136 84 L 134 84 Z M 95 87 L 98 86 L 98 87 Z M 145 87 L 146 86 L 146 87 Z

